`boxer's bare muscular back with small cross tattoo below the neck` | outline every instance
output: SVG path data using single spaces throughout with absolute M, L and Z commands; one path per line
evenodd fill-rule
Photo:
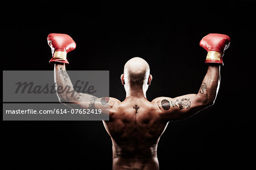
M 159 106 L 144 97 L 127 97 L 109 114 L 104 126 L 112 138 L 113 169 L 158 169 L 157 144 L 167 126 Z

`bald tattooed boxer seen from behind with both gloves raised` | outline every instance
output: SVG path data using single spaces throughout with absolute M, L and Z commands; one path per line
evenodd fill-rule
M 49 63 L 58 71 L 55 72 L 57 87 L 72 88 L 65 64 L 68 64 L 67 53 L 76 48 L 76 43 L 65 34 L 49 34 L 47 39 L 53 54 Z M 113 169 L 159 169 L 156 150 L 168 122 L 191 117 L 213 105 L 220 85 L 222 56 L 229 43 L 229 36 L 222 34 L 209 34 L 200 41 L 201 47 L 208 51 L 205 60 L 208 71 L 197 94 L 148 101 L 146 92 L 152 81 L 150 67 L 145 60 L 134 57 L 127 61 L 121 74 L 126 91 L 124 101 L 84 93 L 72 96 L 64 92 L 57 96 L 60 102 L 71 107 L 109 111 L 109 121 L 103 123 L 113 143 Z

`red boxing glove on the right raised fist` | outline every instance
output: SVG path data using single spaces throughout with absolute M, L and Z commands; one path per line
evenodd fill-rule
M 208 51 L 205 63 L 220 63 L 224 51 L 229 47 L 230 38 L 224 34 L 208 34 L 200 41 L 200 46 Z

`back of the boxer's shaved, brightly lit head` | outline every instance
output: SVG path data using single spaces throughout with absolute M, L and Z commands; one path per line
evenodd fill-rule
M 150 67 L 141 57 L 134 57 L 125 64 L 123 74 L 131 85 L 142 85 L 150 75 Z

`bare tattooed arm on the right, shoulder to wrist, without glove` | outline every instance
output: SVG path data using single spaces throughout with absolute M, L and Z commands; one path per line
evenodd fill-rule
M 155 101 L 161 109 L 163 119 L 167 121 L 181 120 L 213 105 L 219 85 L 220 66 L 209 65 L 197 94 L 187 94 L 176 98 L 159 97 Z

